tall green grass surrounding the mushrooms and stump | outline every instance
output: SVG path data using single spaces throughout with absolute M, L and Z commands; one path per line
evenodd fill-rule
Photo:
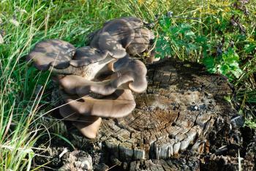
M 37 71 L 25 61 L 25 55 L 37 42 L 42 39 L 57 38 L 80 47 L 86 44 L 86 34 L 102 26 L 106 20 L 132 15 L 150 22 L 155 20 L 154 15 L 162 16 L 167 11 L 172 11 L 176 18 L 171 18 L 171 26 L 189 24 L 192 26 L 192 31 L 196 30 L 195 34 L 206 36 L 207 43 L 214 44 L 219 39 L 219 35 L 215 33 L 215 25 L 211 21 L 222 22 L 223 20 L 218 21 L 218 18 L 214 18 L 217 9 L 226 12 L 231 3 L 233 2 L 192 0 L 1 0 L 0 34 L 4 43 L 0 44 L 0 170 L 20 170 L 20 168 L 30 170 L 31 159 L 38 155 L 35 153 L 34 143 L 42 132 L 47 131 L 47 128 L 39 123 L 38 118 L 42 117 L 42 109 L 45 111 L 43 115 L 48 115 L 48 111 L 53 108 L 48 102 L 50 92 L 47 89 L 50 75 L 49 72 Z M 249 12 L 255 15 L 255 4 L 249 4 L 247 7 Z M 192 19 L 207 16 L 211 18 Z M 256 39 L 255 23 L 246 23 L 245 26 L 251 36 L 236 43 L 238 47 L 246 45 L 249 50 Z M 154 31 L 161 36 L 162 28 L 159 25 L 154 27 Z M 189 41 L 184 39 L 182 33 L 178 34 L 178 37 L 185 43 Z M 167 42 L 168 45 L 169 43 Z M 170 46 L 172 46 L 173 51 L 170 53 L 173 54 L 173 58 L 202 62 L 203 51 L 200 49 L 186 53 L 183 45 L 179 47 L 170 44 Z M 213 50 L 214 48 L 208 49 L 208 51 Z M 243 61 L 243 63 L 238 62 L 242 74 L 233 79 L 238 92 L 236 102 L 243 113 L 248 111 L 255 113 L 253 107 L 256 103 L 256 93 L 253 74 L 256 70 L 256 60 L 255 55 L 244 52 L 244 49 L 236 52 Z M 38 88 L 41 88 L 40 93 Z M 255 128 L 255 118 L 246 123 Z

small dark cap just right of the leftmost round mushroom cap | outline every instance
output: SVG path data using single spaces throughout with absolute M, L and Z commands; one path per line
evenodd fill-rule
M 69 64 L 75 67 L 86 66 L 101 61 L 107 56 L 107 50 L 99 51 L 91 48 L 90 46 L 79 47 L 75 51 L 75 56 L 72 58 Z

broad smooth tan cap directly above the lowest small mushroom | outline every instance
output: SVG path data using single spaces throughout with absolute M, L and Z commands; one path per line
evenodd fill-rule
M 71 96 L 61 91 L 61 96 L 72 110 L 80 115 L 121 118 L 135 108 L 135 99 L 130 90 L 116 90 L 109 96 L 96 99 L 89 96 Z

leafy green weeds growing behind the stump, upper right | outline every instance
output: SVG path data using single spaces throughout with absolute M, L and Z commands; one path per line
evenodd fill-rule
M 208 72 L 225 75 L 237 92 L 255 93 L 255 20 L 253 1 L 198 2 L 191 12 L 167 12 L 157 18 L 157 56 L 200 62 Z M 251 95 L 239 96 L 233 99 L 238 110 L 253 108 Z

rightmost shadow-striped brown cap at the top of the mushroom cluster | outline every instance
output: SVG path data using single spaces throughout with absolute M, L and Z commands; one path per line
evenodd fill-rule
M 148 30 L 148 28 L 136 29 L 135 38 L 127 47 L 127 53 L 129 53 L 129 55 L 135 56 L 148 50 L 148 45 L 150 44 L 150 40 L 153 37 L 152 34 L 153 32 Z

